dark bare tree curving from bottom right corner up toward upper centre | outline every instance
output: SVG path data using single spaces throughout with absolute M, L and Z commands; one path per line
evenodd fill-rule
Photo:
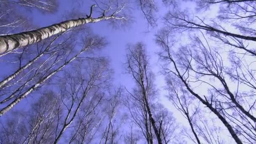
M 163 60 L 166 61 L 165 72 L 166 74 L 171 73 L 175 75 L 183 85 L 187 88 L 187 90 L 195 96 L 202 104 L 204 104 L 206 107 L 208 107 L 211 112 L 213 112 L 219 120 L 225 125 L 225 127 L 228 129 L 229 133 L 233 137 L 233 139 L 237 142 L 237 144 L 242 144 L 242 140 L 237 136 L 237 133 L 235 132 L 234 128 L 230 123 L 228 122 L 227 118 L 221 114 L 221 110 L 223 109 L 219 102 L 214 102 L 215 99 L 213 99 L 213 94 L 211 94 L 208 99 L 206 96 L 200 96 L 199 94 L 195 93 L 193 89 L 191 88 L 189 82 L 189 72 L 192 70 L 191 68 L 191 61 L 193 58 L 188 57 L 187 53 L 182 54 L 184 50 L 180 51 L 181 54 L 176 53 L 176 56 L 178 57 L 179 61 L 174 59 L 173 51 L 171 51 L 171 47 L 173 46 L 173 42 L 170 40 L 170 31 L 161 31 L 157 34 L 157 43 L 163 48 L 163 53 L 160 53 L 160 56 Z M 184 47 L 182 47 L 184 48 Z M 189 51 L 188 51 L 189 52 Z M 200 58 L 198 58 L 200 59 Z M 186 62 L 185 62 L 186 61 Z M 169 68 L 169 64 L 173 64 L 173 69 Z M 214 65 L 213 65 L 214 66 Z M 211 66 L 213 68 L 213 66 Z

